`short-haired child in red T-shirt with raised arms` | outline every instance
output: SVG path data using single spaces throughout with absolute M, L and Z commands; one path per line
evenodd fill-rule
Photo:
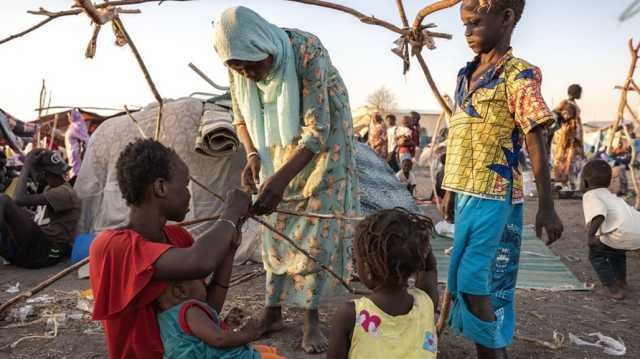
M 101 320 L 110 358 L 162 358 L 154 303 L 168 281 L 205 278 L 207 302 L 222 306 L 238 223 L 250 197 L 234 190 L 221 219 L 194 243 L 182 221 L 191 198 L 189 169 L 171 149 L 154 140 L 129 144 L 117 162 L 118 184 L 130 207 L 129 224 L 101 232 L 90 250 L 93 319 Z

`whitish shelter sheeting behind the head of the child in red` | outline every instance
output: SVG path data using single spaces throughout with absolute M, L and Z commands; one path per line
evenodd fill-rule
M 245 163 L 244 151 L 226 157 L 210 157 L 195 151 L 198 127 L 205 109 L 202 101 L 192 98 L 166 102 L 163 106 L 161 142 L 180 155 L 194 178 L 212 191 L 225 195 L 228 190 L 240 186 L 240 172 Z M 133 117 L 147 135 L 153 134 L 156 105 L 134 113 Z M 140 137 L 139 131 L 126 115 L 104 122 L 91 137 L 74 187 L 82 200 L 80 233 L 97 232 L 127 223 L 129 210 L 118 188 L 115 166 L 124 147 Z M 222 203 L 216 198 L 193 183 L 189 184 L 189 190 L 191 210 L 185 220 L 220 213 Z M 213 222 L 205 222 L 190 226 L 188 230 L 194 238 L 198 238 L 212 225 Z

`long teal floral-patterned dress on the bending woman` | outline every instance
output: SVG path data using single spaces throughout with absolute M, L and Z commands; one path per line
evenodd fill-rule
M 301 133 L 291 145 L 271 148 L 273 168 L 281 168 L 300 147 L 312 151 L 315 157 L 291 181 L 279 208 L 358 216 L 355 143 L 347 89 L 316 36 L 295 29 L 285 31 L 291 39 L 300 79 Z M 233 110 L 236 123 L 242 123 L 235 99 Z M 262 174 L 261 179 L 265 179 Z M 350 278 L 354 223 L 282 214 L 273 214 L 268 221 L 342 278 Z M 265 230 L 262 240 L 267 306 L 315 309 L 325 288 L 340 285 L 279 236 Z

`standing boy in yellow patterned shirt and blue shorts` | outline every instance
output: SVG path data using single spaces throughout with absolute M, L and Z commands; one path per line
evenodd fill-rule
M 478 55 L 458 75 L 449 124 L 444 209 L 456 231 L 449 267 L 449 324 L 476 343 L 478 358 L 505 358 L 515 330 L 515 285 L 522 238 L 526 142 L 540 194 L 536 232 L 562 234 L 551 198 L 540 69 L 513 56 L 511 34 L 525 0 L 464 0 L 461 18 Z

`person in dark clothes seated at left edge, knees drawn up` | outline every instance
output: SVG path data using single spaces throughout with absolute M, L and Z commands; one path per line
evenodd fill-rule
M 71 254 L 80 199 L 64 180 L 68 170 L 58 153 L 35 149 L 25 159 L 14 199 L 0 194 L 0 256 L 11 264 L 42 268 Z M 44 187 L 44 192 L 28 194 L 29 180 Z M 27 207 L 37 207 L 36 213 Z

